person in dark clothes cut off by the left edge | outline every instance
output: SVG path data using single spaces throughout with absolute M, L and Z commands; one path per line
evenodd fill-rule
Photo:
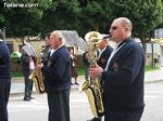
M 11 86 L 10 51 L 0 29 L 0 121 L 8 121 L 8 100 Z

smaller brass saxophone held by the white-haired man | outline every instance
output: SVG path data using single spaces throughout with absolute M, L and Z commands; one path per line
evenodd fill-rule
M 43 45 L 36 54 L 36 64 L 41 64 L 41 56 L 40 52 L 48 48 L 48 45 Z M 39 94 L 42 94 L 45 92 L 45 77 L 42 76 L 41 69 L 35 69 L 30 76 L 29 79 L 35 83 L 36 91 Z

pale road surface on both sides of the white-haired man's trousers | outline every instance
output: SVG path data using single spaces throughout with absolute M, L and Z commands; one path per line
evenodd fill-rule
M 9 102 L 10 121 L 47 121 L 47 95 L 34 95 L 32 102 L 24 102 L 23 95 L 11 96 Z M 71 93 L 72 121 L 86 121 L 91 118 L 89 103 L 85 93 L 72 91 Z

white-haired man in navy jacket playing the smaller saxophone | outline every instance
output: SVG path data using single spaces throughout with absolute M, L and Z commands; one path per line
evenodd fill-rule
M 49 121 L 70 121 L 71 57 L 61 31 L 50 35 L 51 53 L 47 66 L 38 65 L 46 78 Z

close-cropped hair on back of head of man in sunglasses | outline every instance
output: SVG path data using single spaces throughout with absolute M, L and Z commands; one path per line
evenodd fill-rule
M 121 18 L 121 24 L 124 27 L 128 27 L 130 30 L 133 29 L 133 24 L 127 17 L 120 17 Z

